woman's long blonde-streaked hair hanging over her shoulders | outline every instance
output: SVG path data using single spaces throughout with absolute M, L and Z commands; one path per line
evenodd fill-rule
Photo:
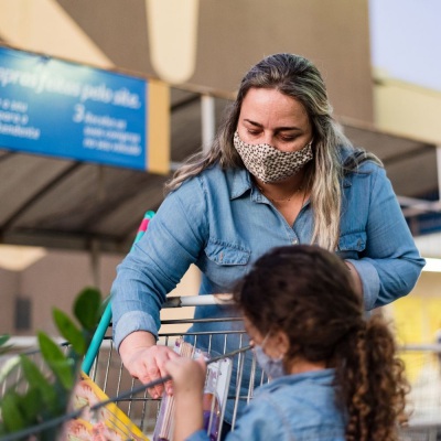
M 277 89 L 300 101 L 305 108 L 313 132 L 314 160 L 310 169 L 311 204 L 314 208 L 312 243 L 334 250 L 340 235 L 341 178 L 344 173 L 337 147 L 352 148 L 351 142 L 332 118 L 332 106 L 319 69 L 306 58 L 293 54 L 270 55 L 245 75 L 236 100 L 227 109 L 225 119 L 212 149 L 191 157 L 168 183 L 166 190 L 175 190 L 186 179 L 198 174 L 218 162 L 222 168 L 244 168 L 233 137 L 237 129 L 241 104 L 250 88 Z M 353 162 L 375 159 L 370 153 Z

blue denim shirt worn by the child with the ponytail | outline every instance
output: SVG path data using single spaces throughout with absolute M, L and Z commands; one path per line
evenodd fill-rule
M 226 441 L 344 441 L 346 416 L 335 405 L 334 369 L 288 375 L 260 386 Z M 207 441 L 200 430 L 186 441 Z

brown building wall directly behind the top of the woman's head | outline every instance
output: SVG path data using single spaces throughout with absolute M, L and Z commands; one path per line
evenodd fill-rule
M 373 121 L 367 0 L 200 4 L 196 68 L 190 83 L 235 90 L 263 56 L 292 52 L 320 68 L 338 116 Z

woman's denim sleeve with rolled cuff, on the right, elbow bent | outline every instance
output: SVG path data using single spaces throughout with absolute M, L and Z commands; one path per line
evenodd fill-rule
M 365 309 L 372 310 L 407 295 L 426 263 L 406 223 L 383 168 L 370 165 L 366 249 L 348 259 L 362 279 Z

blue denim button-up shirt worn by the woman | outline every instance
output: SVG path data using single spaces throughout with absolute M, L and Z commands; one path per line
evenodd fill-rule
M 358 271 L 368 311 L 408 294 L 424 260 L 383 168 L 362 163 L 344 178 L 342 189 L 335 251 Z M 117 347 L 135 331 L 158 334 L 161 304 L 191 263 L 203 275 L 200 294 L 230 292 L 257 258 L 276 246 L 310 244 L 312 229 L 309 202 L 289 225 L 244 169 L 214 165 L 187 180 L 165 197 L 117 268 L 111 290 Z M 225 306 L 216 305 L 195 311 L 196 318 L 225 314 Z M 225 326 L 213 323 L 209 331 Z

